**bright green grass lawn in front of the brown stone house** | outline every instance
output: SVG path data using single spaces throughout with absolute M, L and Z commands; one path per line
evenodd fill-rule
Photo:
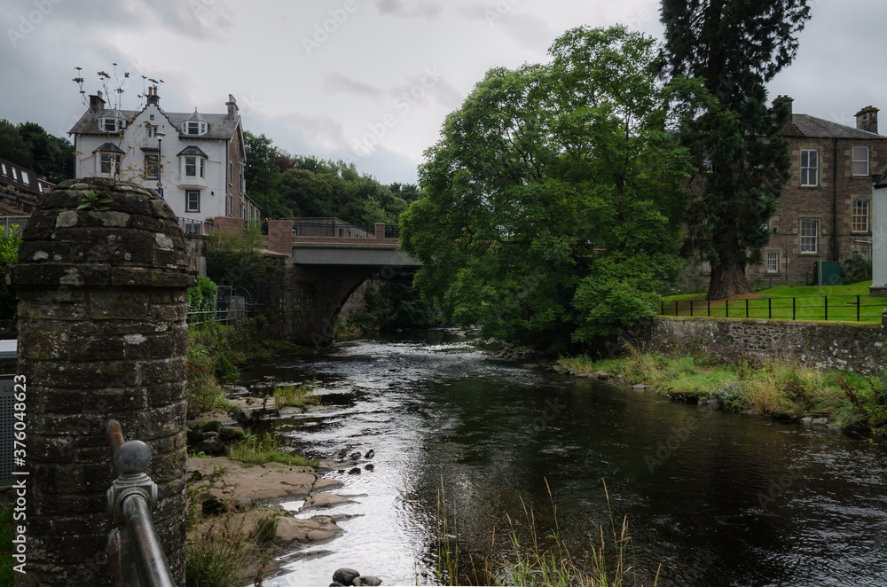
M 664 316 L 880 322 L 887 298 L 868 295 L 871 281 L 848 286 L 777 286 L 757 294 L 707 301 L 705 294 L 663 298 Z

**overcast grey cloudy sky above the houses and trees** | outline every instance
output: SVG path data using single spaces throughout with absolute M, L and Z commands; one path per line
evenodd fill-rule
M 887 107 L 883 0 L 812 0 L 795 63 L 771 98 L 855 126 Z M 443 118 L 491 67 L 546 60 L 570 27 L 623 23 L 662 36 L 657 0 L 0 0 L 0 118 L 67 131 L 84 112 L 72 78 L 162 79 L 169 112 L 224 112 L 293 154 L 354 161 L 382 183 L 412 183 Z M 887 124 L 887 121 L 884 122 Z

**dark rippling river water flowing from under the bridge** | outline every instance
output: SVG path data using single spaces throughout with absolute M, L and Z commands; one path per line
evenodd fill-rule
M 461 560 L 477 567 L 506 549 L 509 517 L 525 536 L 522 500 L 540 534 L 553 528 L 550 488 L 577 559 L 587 536 L 627 518 L 638 585 L 660 565 L 663 586 L 887 585 L 887 442 L 527 368 L 455 331 L 341 342 L 243 372 L 247 385 L 266 376 L 318 380 L 326 411 L 275 422 L 302 453 L 375 455 L 326 474 L 353 503 L 297 514 L 348 515 L 341 536 L 265 585 L 326 585 L 338 567 L 432 584 L 442 486 Z

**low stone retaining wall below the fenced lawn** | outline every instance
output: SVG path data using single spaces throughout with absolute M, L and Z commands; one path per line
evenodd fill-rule
M 730 360 L 737 349 L 761 358 L 797 359 L 818 369 L 874 373 L 883 364 L 884 326 L 755 318 L 656 317 L 653 340 Z

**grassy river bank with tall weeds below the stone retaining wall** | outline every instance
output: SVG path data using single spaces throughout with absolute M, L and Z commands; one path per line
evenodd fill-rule
M 747 355 L 725 364 L 714 356 L 639 352 L 590 359 L 561 357 L 556 372 L 650 389 L 686 403 L 723 405 L 729 411 L 782 421 L 887 434 L 887 377 L 821 371 L 797 362 Z

